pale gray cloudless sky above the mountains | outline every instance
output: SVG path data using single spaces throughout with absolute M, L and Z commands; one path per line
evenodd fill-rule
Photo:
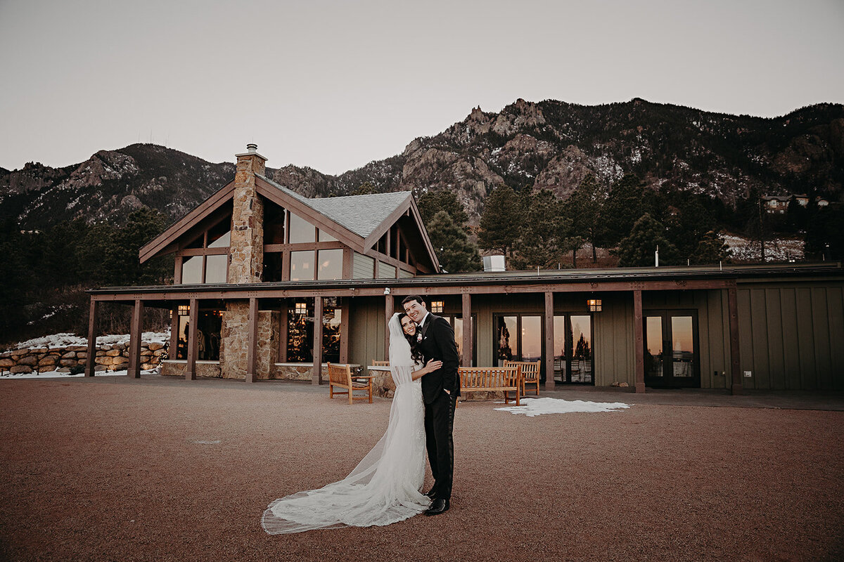
M 844 0 L 0 0 L 0 166 L 154 142 L 326 174 L 518 98 L 844 103 Z

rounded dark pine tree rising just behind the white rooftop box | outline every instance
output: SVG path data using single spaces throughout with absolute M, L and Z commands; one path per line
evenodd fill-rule
M 510 255 L 522 231 L 525 210 L 523 201 L 507 185 L 492 190 L 480 217 L 478 243 L 481 248 Z

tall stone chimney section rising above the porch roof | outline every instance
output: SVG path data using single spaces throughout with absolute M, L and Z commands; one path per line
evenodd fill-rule
M 229 282 L 260 283 L 263 267 L 263 203 L 255 191 L 255 174 L 265 173 L 267 158 L 257 144 L 247 144 L 236 154 L 235 208 L 231 216 Z

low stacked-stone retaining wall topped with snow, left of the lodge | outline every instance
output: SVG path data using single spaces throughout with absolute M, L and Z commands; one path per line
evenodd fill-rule
M 141 343 L 141 368 L 154 369 L 160 363 L 166 345 L 154 342 Z M 66 347 L 24 347 L 0 353 L 0 372 L 70 372 L 73 367 L 84 367 L 88 359 L 87 345 Z M 95 371 L 122 371 L 129 367 L 127 344 L 98 345 L 94 357 Z

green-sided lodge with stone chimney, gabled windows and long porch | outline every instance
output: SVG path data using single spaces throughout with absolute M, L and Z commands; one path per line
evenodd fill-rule
M 386 359 L 387 319 L 409 294 L 448 318 L 464 366 L 541 361 L 563 385 L 844 388 L 841 264 L 484 271 L 449 274 L 410 192 L 308 199 L 265 174 L 257 147 L 235 178 L 140 250 L 175 254 L 169 286 L 90 292 L 172 318 L 164 374 L 322 383 L 327 361 Z

